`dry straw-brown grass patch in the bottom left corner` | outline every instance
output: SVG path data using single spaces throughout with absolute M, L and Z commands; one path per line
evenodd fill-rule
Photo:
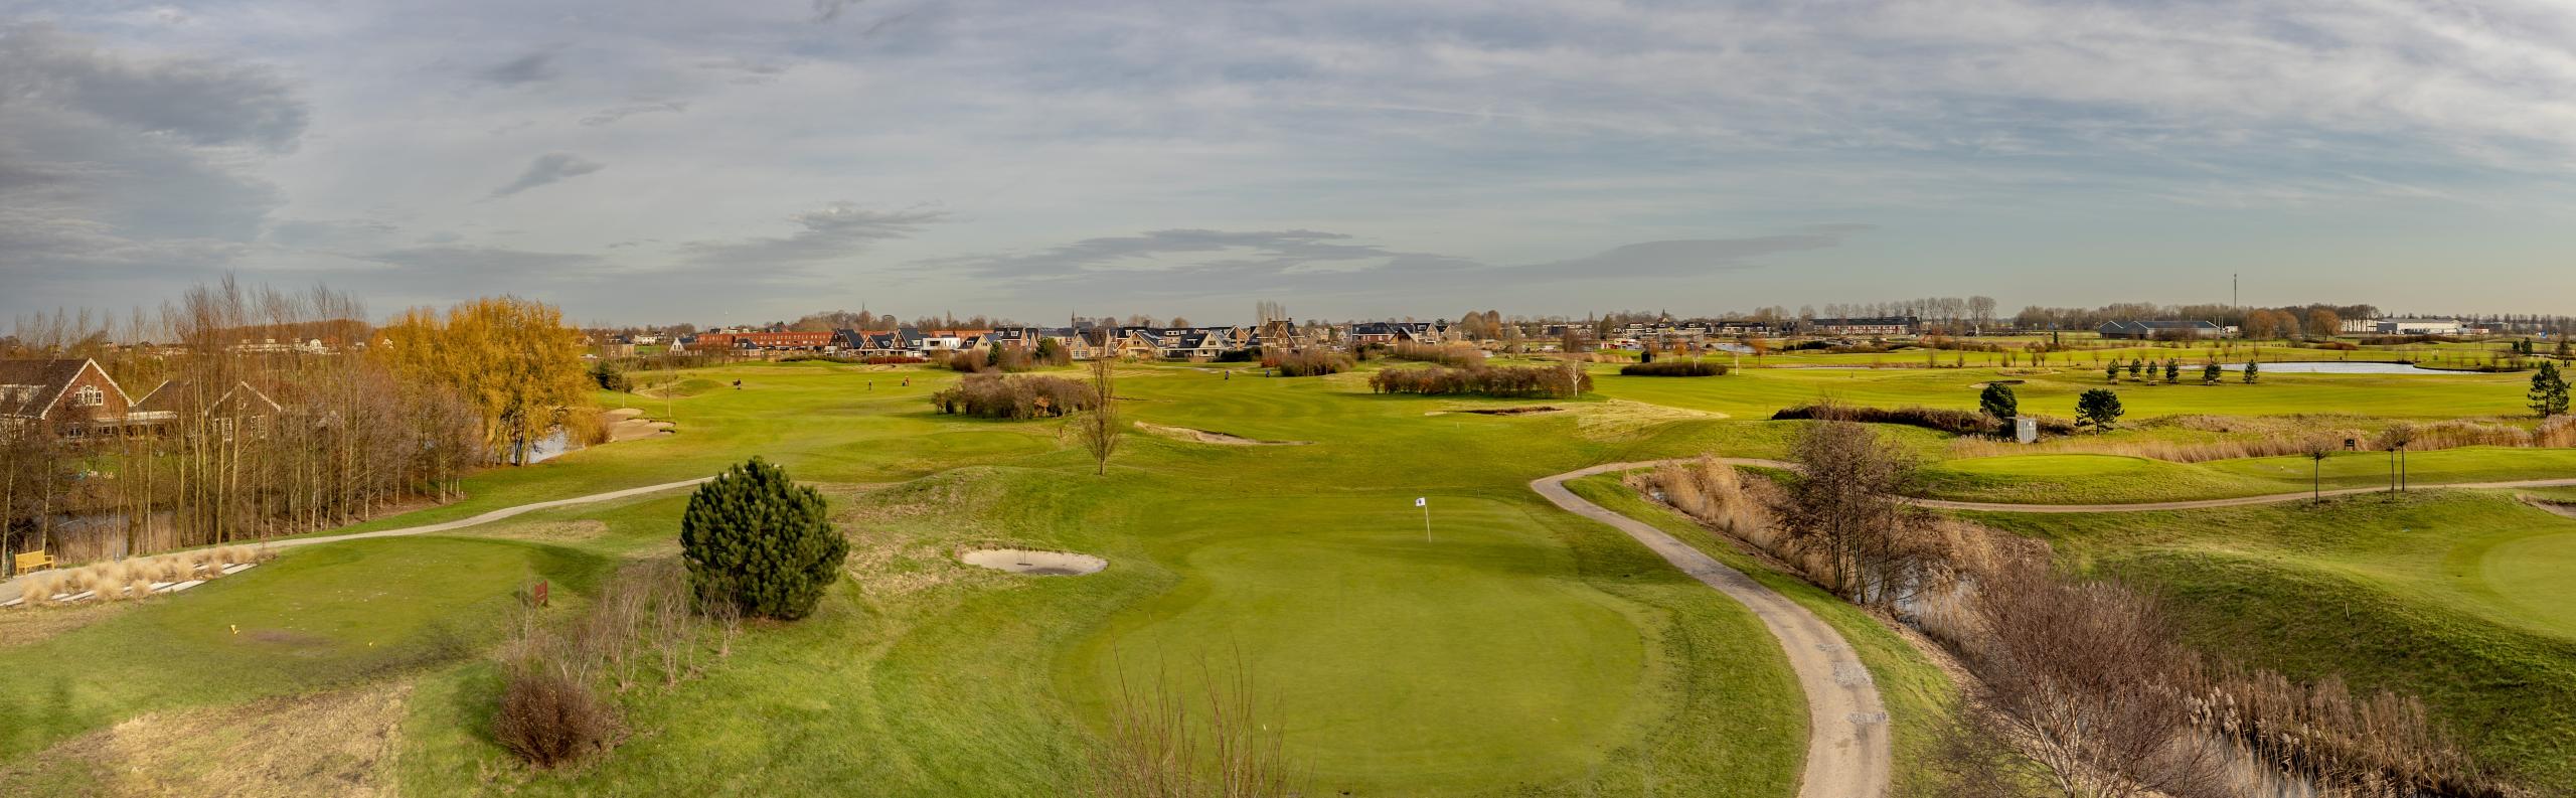
M 0 770 L 0 793 L 85 770 L 100 795 L 394 795 L 410 695 L 394 682 L 149 713 L 23 757 Z

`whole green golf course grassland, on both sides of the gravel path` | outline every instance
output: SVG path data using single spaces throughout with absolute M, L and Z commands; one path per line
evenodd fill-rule
M 1816 399 L 1976 407 L 1981 384 L 2009 378 L 2025 409 L 2071 414 L 2076 394 L 2107 384 L 2084 368 L 1592 371 L 1592 396 L 1499 402 L 1378 396 L 1365 373 L 1260 378 L 1236 368 L 1226 378 L 1216 366 L 1131 366 L 1121 371 L 1121 409 L 1133 420 L 1298 445 L 1136 430 L 1108 476 L 1092 476 L 1064 422 L 935 414 L 925 396 L 956 378 L 948 371 L 744 363 L 654 373 L 647 394 L 600 402 L 675 420 L 675 435 L 484 471 L 466 479 L 461 502 L 350 528 L 693 479 L 750 456 L 822 487 L 855 541 L 853 579 L 809 620 L 750 628 L 693 680 L 618 695 L 631 734 L 611 757 L 531 772 L 502 754 L 487 731 L 500 690 L 489 649 L 520 623 L 513 592 L 536 579 L 564 597 L 536 620 L 562 618 L 618 564 L 670 556 L 677 492 L 446 535 L 294 548 L 167 600 L 0 613 L 0 793 L 222 790 L 250 770 L 294 770 L 435 795 L 814 785 L 1056 795 L 1084 788 L 1097 731 L 1126 690 L 1195 695 L 1239 674 L 1309 793 L 1790 795 L 1806 708 L 1759 623 L 1525 484 L 1605 461 L 1780 458 L 1803 422 L 1767 417 Z M 2530 425 L 2522 381 L 2123 378 L 2130 425 L 2084 443 L 2241 435 L 2172 417 L 2264 430 L 2460 417 Z M 1929 461 L 1929 497 L 2156 502 L 2311 487 L 2311 461 L 2295 456 L 1958 458 L 1950 435 L 1883 432 Z M 2424 450 L 2409 463 L 2416 487 L 2576 476 L 2576 450 L 2558 448 Z M 2321 469 L 2326 489 L 2385 484 L 2380 453 L 2339 453 Z M 1574 489 L 1837 626 L 1888 700 L 1899 793 L 1929 793 L 1919 777 L 1927 728 L 1955 690 L 1909 644 L 1613 476 Z M 1427 541 L 1417 497 L 1432 510 Z M 2561 680 L 2576 672 L 2571 520 L 2486 492 L 2344 497 L 2324 510 L 1978 520 L 2048 538 L 2089 574 L 2164 587 L 2213 651 L 2421 692 L 2481 754 L 2548 788 L 2576 785 L 2576 772 L 2548 765 L 2553 747 L 2576 744 L 2566 731 L 2576 728 L 2576 685 Z M 1084 551 L 1110 569 L 1015 577 L 956 561 L 984 546 Z M 2370 636 L 2342 636 L 2352 628 Z M 2517 695 L 2543 708 L 2522 708 Z M 247 716 L 376 734 L 381 749 L 281 765 L 242 754 L 255 736 L 211 734 Z M 173 752 L 250 765 L 160 780 L 131 767 L 147 734 L 183 741 Z

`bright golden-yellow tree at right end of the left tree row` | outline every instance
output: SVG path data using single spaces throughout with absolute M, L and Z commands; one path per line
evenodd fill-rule
M 487 296 L 443 317 L 407 309 L 376 340 L 397 373 L 456 389 L 482 414 L 484 448 L 513 466 L 590 409 L 582 335 L 544 301 Z

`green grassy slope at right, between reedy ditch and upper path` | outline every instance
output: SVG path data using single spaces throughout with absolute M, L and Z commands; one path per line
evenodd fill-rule
M 2481 492 L 1973 517 L 2161 589 L 2205 651 L 2424 695 L 2478 757 L 2576 793 L 2571 520 Z

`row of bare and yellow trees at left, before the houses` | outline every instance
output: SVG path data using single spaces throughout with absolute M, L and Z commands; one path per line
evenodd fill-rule
M 93 358 L 147 412 L 0 427 L 0 551 L 77 561 L 348 525 L 600 430 L 580 335 L 546 304 L 363 319 L 348 293 L 224 278 L 126 324 L 21 322 L 8 358 Z

